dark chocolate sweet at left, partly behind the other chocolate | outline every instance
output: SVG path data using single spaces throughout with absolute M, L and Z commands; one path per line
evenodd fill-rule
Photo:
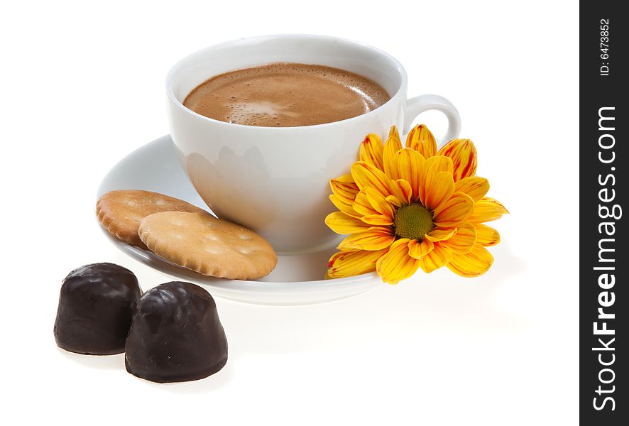
M 59 295 L 53 330 L 57 346 L 89 355 L 124 352 L 141 295 L 136 275 L 114 263 L 93 263 L 70 272 Z

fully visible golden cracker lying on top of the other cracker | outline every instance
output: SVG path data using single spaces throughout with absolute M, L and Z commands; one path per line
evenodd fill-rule
M 153 253 L 203 275 L 261 278 L 278 263 L 266 239 L 208 213 L 151 214 L 140 222 L 139 235 Z

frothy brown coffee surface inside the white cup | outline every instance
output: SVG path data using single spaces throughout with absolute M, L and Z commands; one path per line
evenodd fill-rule
M 278 62 L 212 77 L 192 90 L 183 104 L 229 123 L 292 127 L 349 119 L 388 99 L 378 83 L 353 72 Z

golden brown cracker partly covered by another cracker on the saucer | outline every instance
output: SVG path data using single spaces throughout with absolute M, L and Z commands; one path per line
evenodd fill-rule
M 140 221 L 158 212 L 205 212 L 189 202 L 142 190 L 111 191 L 96 203 L 96 214 L 109 234 L 132 246 L 146 249 L 138 236 Z

